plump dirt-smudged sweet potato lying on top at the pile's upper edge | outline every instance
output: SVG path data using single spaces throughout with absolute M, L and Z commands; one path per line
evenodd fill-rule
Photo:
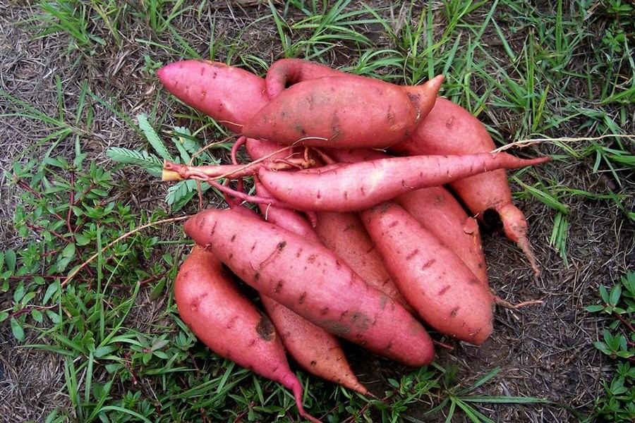
M 243 135 L 284 145 L 385 148 L 408 137 L 419 114 L 397 85 L 370 78 L 298 82 L 243 126 Z

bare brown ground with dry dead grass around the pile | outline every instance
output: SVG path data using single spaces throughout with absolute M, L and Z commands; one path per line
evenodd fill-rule
M 546 5 L 545 7 L 548 7 Z M 396 16 L 399 6 L 394 6 Z M 147 34 L 141 22 L 130 23 L 123 34 L 120 48 L 99 47 L 87 54 L 68 51 L 66 35 L 51 35 L 33 39 L 35 34 L 28 24 L 20 23 L 34 14 L 30 2 L 0 3 L 0 88 L 23 102 L 34 104 L 48 113 L 56 113 L 54 77 L 61 78 L 65 108 L 73 110 L 80 83 L 87 81 L 92 92 L 111 98 L 123 111 L 135 116 L 152 109 L 156 90 L 161 90 L 156 78 L 144 68 L 147 46 L 135 42 L 136 37 Z M 185 13 L 174 27 L 187 37 L 191 46 L 205 54 L 210 40 L 212 22 L 214 35 L 231 39 L 238 30 L 255 18 L 268 13 L 267 6 L 210 7 L 207 13 Z M 475 19 L 478 19 L 476 17 Z M 399 22 L 394 19 L 395 25 Z M 95 28 L 96 32 L 103 28 Z M 368 28 L 368 32 L 377 28 Z M 277 33 L 270 22 L 251 25 L 242 35 L 243 44 L 250 54 L 270 63 L 280 54 Z M 522 30 L 513 37 L 522 43 Z M 377 35 L 378 42 L 382 42 Z M 169 35 L 162 41 L 169 43 Z M 492 44 L 492 54 L 500 45 Z M 587 46 L 592 49 L 592 46 Z M 155 54 L 155 53 L 153 53 Z M 334 50 L 334 66 L 346 63 L 350 49 Z M 579 51 L 581 66 L 584 51 Z M 157 62 L 169 63 L 180 59 L 164 51 L 154 56 Z M 219 51 L 218 59 L 224 59 Z M 566 88 L 571 97 L 586 97 L 583 84 Z M 165 111 L 173 103 L 162 95 L 159 109 Z M 8 111 L 5 99 L 0 99 L 0 113 Z M 126 124 L 103 108 L 96 108 L 95 124 L 83 141 L 100 166 L 111 167 L 104 150 L 112 146 L 134 147 L 142 140 Z M 171 113 L 168 114 L 171 116 Z M 635 106 L 629 108 L 630 128 L 635 133 Z M 169 118 L 170 119 L 170 118 Z M 495 125 L 502 133 L 513 133 L 514 117 L 502 109 L 488 109 L 485 121 Z M 175 123 L 175 122 L 171 122 Z M 16 236 L 12 215 L 16 205 L 16 192 L 8 188 L 11 163 L 19 159 L 27 147 L 40 140 L 50 128 L 41 122 L 21 117 L 0 120 L 0 240 L 4 247 L 20 247 L 23 240 Z M 569 122 L 552 136 L 584 136 Z M 72 146 L 60 145 L 58 152 L 70 151 Z M 560 154 L 555 147 L 538 147 L 543 154 Z M 38 154 L 35 149 L 28 154 Z M 562 185 L 591 192 L 606 192 L 615 188 L 615 181 L 605 173 L 593 173 L 592 159 L 573 159 L 546 164 L 540 172 Z M 131 189 L 122 200 L 141 209 L 163 207 L 165 187 L 149 181 L 134 169 L 126 173 Z M 528 178 L 531 178 L 528 177 Z M 624 175 L 622 192 L 635 194 L 631 175 Z M 526 180 L 531 183 L 531 180 Z M 514 190 L 518 189 L 513 186 Z M 557 252 L 549 246 L 552 233 L 552 210 L 534 200 L 517 200 L 531 224 L 530 238 L 536 249 L 542 275 L 535 279 L 524 257 L 498 231 L 484 228 L 483 242 L 490 266 L 490 284 L 504 300 L 521 302 L 540 299 L 542 305 L 518 310 L 497 308 L 495 333 L 484 345 L 476 348 L 458 345 L 452 352 L 441 354 L 440 362 L 461 364 L 461 377 L 471 381 L 489 369 L 500 367 L 500 374 L 481 386 L 478 392 L 486 395 L 534 396 L 552 401 L 549 405 L 479 405 L 485 415 L 498 422 L 574 422 L 578 421 L 567 407 L 586 415 L 593 401 L 602 391 L 602 378 L 607 374 L 607 361 L 593 348 L 600 336 L 603 321 L 584 311 L 586 305 L 597 300 L 601 283 L 611 285 L 625 271 L 635 267 L 635 227 L 610 200 L 585 200 L 571 197 L 567 200 L 570 214 L 567 241 L 569 266 L 564 266 Z M 631 203 L 627 204 L 630 209 Z M 11 297 L 0 294 L 0 309 L 11 304 Z M 29 338 L 26 343 L 34 341 Z M 353 367 L 360 379 L 371 389 L 381 393 L 387 377 L 399 375 L 404 369 L 387 360 L 370 357 L 361 350 L 348 346 Z M 59 395 L 63 386 L 63 368 L 56 355 L 19 348 L 7 324 L 0 324 L 0 422 L 44 421 L 53 407 L 64 406 L 68 398 Z M 413 410 L 413 416 L 418 410 Z

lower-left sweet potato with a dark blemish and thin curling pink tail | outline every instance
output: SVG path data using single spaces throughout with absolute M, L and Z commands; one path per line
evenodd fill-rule
M 302 385 L 270 320 L 241 295 L 214 254 L 193 249 L 176 276 L 174 300 L 183 322 L 214 353 L 291 389 L 300 414 L 319 422 L 302 407 Z

